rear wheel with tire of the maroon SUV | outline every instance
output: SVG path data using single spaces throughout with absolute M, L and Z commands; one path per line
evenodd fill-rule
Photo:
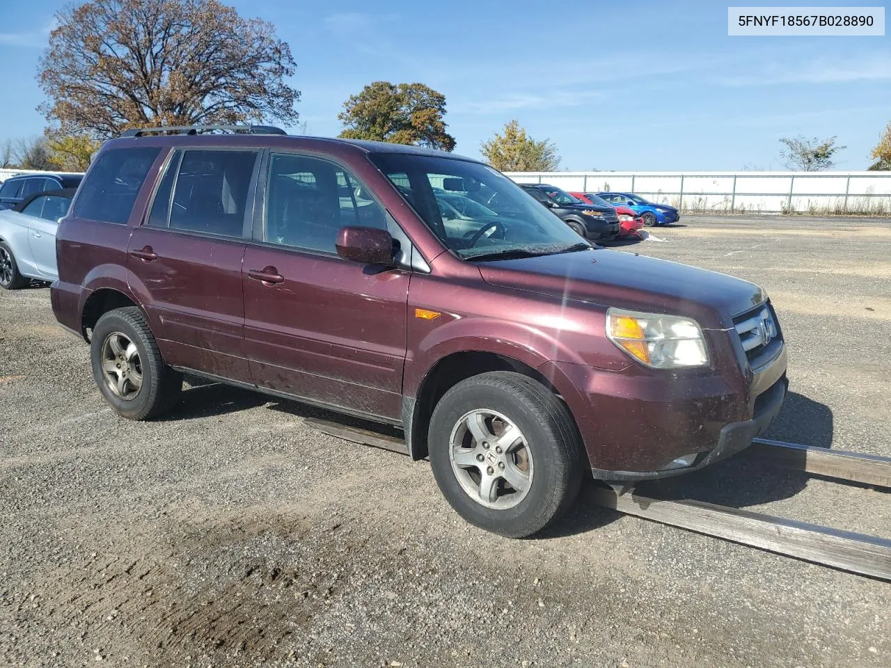
M 135 306 L 116 308 L 96 322 L 90 362 L 96 385 L 122 418 L 150 420 L 179 401 L 183 374 L 164 363 L 143 312 Z

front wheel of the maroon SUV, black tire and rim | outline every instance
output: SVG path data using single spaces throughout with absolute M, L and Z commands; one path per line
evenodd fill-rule
M 471 423 L 483 438 L 473 435 Z M 518 430 L 513 438 L 505 437 L 507 428 Z M 449 389 L 433 411 L 428 443 L 446 501 L 495 534 L 535 534 L 578 495 L 582 443 L 575 422 L 557 396 L 522 374 L 483 373 Z

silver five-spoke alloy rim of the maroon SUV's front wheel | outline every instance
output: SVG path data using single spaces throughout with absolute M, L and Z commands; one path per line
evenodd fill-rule
M 487 508 L 513 508 L 532 486 L 526 438 L 497 411 L 477 409 L 458 420 L 449 439 L 449 458 L 464 492 Z

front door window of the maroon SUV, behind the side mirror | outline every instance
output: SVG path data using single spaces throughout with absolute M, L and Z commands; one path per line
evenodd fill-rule
M 335 253 L 345 225 L 387 229 L 387 216 L 343 168 L 316 158 L 274 155 L 266 189 L 266 240 Z

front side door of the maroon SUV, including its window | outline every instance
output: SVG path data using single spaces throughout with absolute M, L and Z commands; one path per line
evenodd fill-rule
M 344 225 L 387 229 L 383 208 L 327 160 L 273 154 L 258 237 L 244 254 L 245 353 L 254 382 L 398 420 L 410 273 L 348 262 Z

